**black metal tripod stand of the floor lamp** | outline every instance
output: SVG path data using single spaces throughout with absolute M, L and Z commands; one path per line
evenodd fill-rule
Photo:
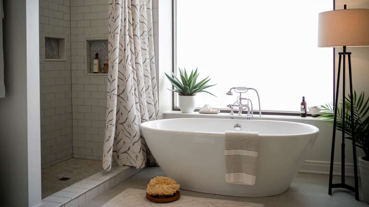
M 346 9 L 346 4 L 344 6 Z M 354 103 L 353 103 L 353 93 L 352 93 L 352 73 L 351 73 L 351 52 L 346 52 L 346 46 L 343 46 L 343 52 L 339 52 L 338 59 L 338 74 L 337 74 L 337 85 L 336 85 L 336 97 L 335 97 L 335 106 L 334 106 L 334 121 L 333 121 L 333 137 L 332 137 L 332 149 L 331 149 L 331 165 L 329 172 L 329 188 L 328 194 L 332 195 L 332 188 L 345 188 L 355 192 L 355 199 L 359 200 L 359 186 L 358 186 L 358 166 L 357 166 L 357 158 L 356 158 L 356 144 L 355 144 L 355 126 L 354 126 Z M 349 71 L 349 80 L 350 80 L 350 103 L 351 103 L 351 133 L 352 133 L 352 151 L 354 153 L 354 176 L 355 176 L 355 187 L 349 186 L 345 183 L 345 75 L 346 75 L 346 55 L 348 56 L 348 71 Z M 334 144 L 336 137 L 336 128 L 337 128 L 337 108 L 338 108 L 338 94 L 339 94 L 339 76 L 341 74 L 341 59 L 343 57 L 343 77 L 342 77 L 342 144 L 341 144 L 341 183 L 332 184 L 333 179 L 333 162 L 334 162 Z

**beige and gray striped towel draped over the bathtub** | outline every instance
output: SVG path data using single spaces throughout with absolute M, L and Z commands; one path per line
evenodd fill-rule
M 258 132 L 225 132 L 224 168 L 227 183 L 255 184 L 258 169 L 258 149 Z

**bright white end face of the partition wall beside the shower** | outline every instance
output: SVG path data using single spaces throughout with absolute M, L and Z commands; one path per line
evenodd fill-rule
M 41 132 L 38 0 L 26 1 L 28 206 L 41 202 Z M 35 41 L 36 40 L 36 41 Z

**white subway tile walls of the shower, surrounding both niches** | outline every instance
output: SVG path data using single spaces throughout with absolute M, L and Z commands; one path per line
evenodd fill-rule
M 158 71 L 158 0 L 152 4 Z M 102 160 L 107 78 L 86 75 L 86 39 L 108 38 L 108 0 L 39 0 L 39 7 L 42 168 L 72 157 Z M 65 37 L 65 62 L 44 61 L 44 35 Z

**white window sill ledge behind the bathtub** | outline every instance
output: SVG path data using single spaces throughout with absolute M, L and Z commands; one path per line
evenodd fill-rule
M 199 112 L 193 113 L 181 113 L 180 111 L 166 111 L 163 113 L 164 118 L 231 118 L 234 119 L 246 119 L 245 115 L 238 116 L 237 113 L 235 115 L 230 115 L 229 113 L 218 113 L 218 114 L 200 114 Z M 310 121 L 323 121 L 322 118 L 319 117 L 300 117 L 300 116 L 292 116 L 292 115 L 254 115 L 254 120 L 310 120 Z

